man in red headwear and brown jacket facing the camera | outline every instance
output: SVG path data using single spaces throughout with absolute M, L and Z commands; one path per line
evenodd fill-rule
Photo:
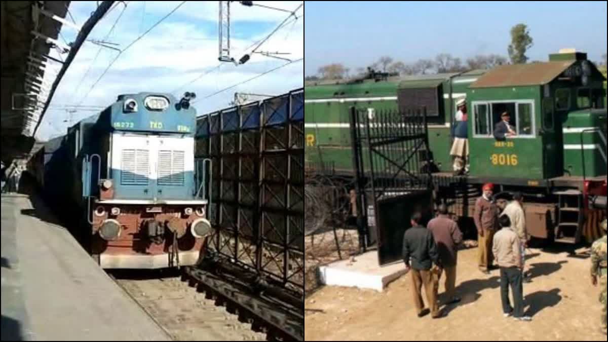
M 478 260 L 479 270 L 489 274 L 492 267 L 492 239 L 497 228 L 498 208 L 492 201 L 494 184 L 486 183 L 482 187 L 483 195 L 475 202 L 475 226 L 478 236 Z

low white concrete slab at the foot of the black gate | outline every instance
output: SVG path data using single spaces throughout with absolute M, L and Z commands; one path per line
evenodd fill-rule
M 369 251 L 355 257 L 355 261 L 340 260 L 319 267 L 322 284 L 345 287 L 371 288 L 382 291 L 389 282 L 406 274 L 402 262 L 395 262 L 384 267 L 378 265 L 378 252 Z

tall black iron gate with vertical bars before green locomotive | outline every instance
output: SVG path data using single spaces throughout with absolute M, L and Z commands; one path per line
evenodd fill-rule
M 359 243 L 365 248 L 377 242 L 381 264 L 398 260 L 409 215 L 432 212 L 426 110 L 353 107 L 350 127 Z

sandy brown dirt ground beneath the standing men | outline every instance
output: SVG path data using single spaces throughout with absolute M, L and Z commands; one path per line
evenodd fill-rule
M 527 264 L 533 282 L 523 287 L 531 322 L 503 317 L 500 271 L 480 273 L 477 248 L 471 248 L 458 253 L 457 293 L 463 300 L 441 305 L 444 318 L 416 316 L 410 274 L 382 293 L 322 287 L 305 299 L 305 340 L 606 341 L 600 332 L 599 287 L 589 276 L 589 249 L 567 250 L 531 249 Z M 443 291 L 441 284 L 440 302 Z

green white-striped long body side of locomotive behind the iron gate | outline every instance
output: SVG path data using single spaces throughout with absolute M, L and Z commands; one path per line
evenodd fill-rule
M 452 170 L 452 138 L 449 121 L 455 113 L 455 103 L 466 95 L 466 90 L 477 77 L 485 71 L 471 71 L 454 77 L 450 88 L 449 78 L 440 85 L 440 96 L 443 98 L 443 113 L 440 117 L 429 117 L 429 148 L 433 153 L 435 165 L 440 171 Z M 408 87 L 420 82 L 410 80 L 401 82 Z M 429 83 L 430 81 L 424 81 Z M 431 82 L 437 83 L 437 81 Z M 426 84 L 426 83 L 424 83 Z M 305 88 L 305 134 L 307 162 L 333 165 L 339 171 L 353 172 L 350 143 L 351 106 L 376 111 L 396 110 L 398 103 L 396 93 L 399 82 L 364 82 L 354 85 L 316 85 Z M 449 91 L 452 89 L 452 100 Z M 356 101 L 340 99 L 356 98 Z M 382 99 L 378 99 L 381 97 Z M 369 100 L 365 100 L 368 98 Z M 450 109 L 452 108 L 452 109 Z M 450 113 L 453 111 L 454 113 Z M 367 157 L 364 152 L 364 158 Z M 369 165 L 367 159 L 364 165 Z

